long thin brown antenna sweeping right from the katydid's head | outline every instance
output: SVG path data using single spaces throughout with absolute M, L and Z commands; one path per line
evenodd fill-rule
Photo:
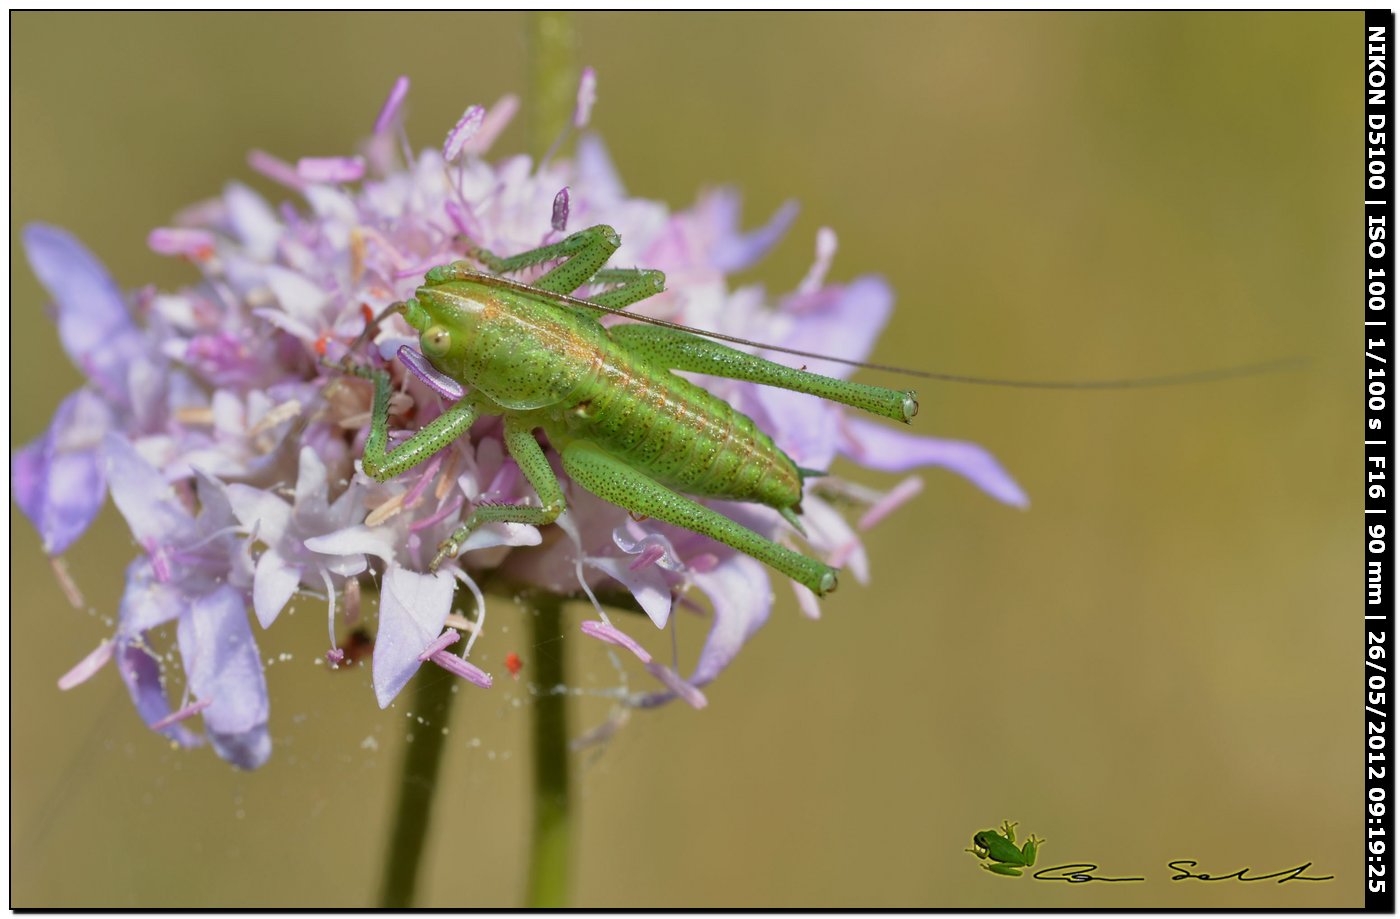
M 521 282 L 515 282 L 508 277 L 500 277 L 497 275 L 484 275 L 484 273 L 477 275 L 476 280 L 480 280 L 482 283 L 490 287 L 504 287 L 507 290 L 515 290 L 535 297 L 547 297 L 550 300 L 554 300 L 557 303 L 570 307 L 582 307 L 585 310 L 608 312 L 612 315 L 626 317 L 634 322 L 645 322 L 647 325 L 659 325 L 664 329 L 676 329 L 678 332 L 689 332 L 692 335 L 700 335 L 721 342 L 731 342 L 734 345 L 760 347 L 769 352 L 792 354 L 794 357 L 806 357 L 808 360 L 826 360 L 833 364 L 844 364 L 846 367 L 861 367 L 864 370 L 879 370 L 882 373 L 902 374 L 906 377 L 918 377 L 920 380 L 937 380 L 938 382 L 962 382 L 979 387 L 1012 387 L 1018 389 L 1147 389 L 1152 387 L 1179 387 L 1193 382 L 1212 382 L 1217 380 L 1232 380 L 1236 377 L 1253 377 L 1256 374 L 1280 373 L 1284 370 L 1298 370 L 1305 364 L 1303 359 L 1301 357 L 1281 357 L 1277 360 L 1267 360 L 1256 364 L 1219 367 L 1217 370 L 1196 370 L 1190 373 L 1163 374 L 1158 377 L 1124 377 L 1119 380 L 1002 380 L 997 377 L 970 377 L 965 374 L 948 374 L 948 373 L 934 373 L 930 370 L 911 370 L 909 367 L 893 367 L 890 364 L 872 364 L 864 360 L 848 360 L 846 357 L 832 357 L 830 354 L 804 352 L 795 347 L 783 347 L 781 345 L 764 345 L 763 342 L 752 342 L 746 338 L 736 338 L 734 335 L 724 335 L 722 332 L 696 329 L 689 325 L 682 325 L 680 322 L 655 319 L 652 317 L 630 312 L 627 310 L 617 310 L 616 307 L 605 307 L 602 304 L 592 303 L 589 300 L 580 300 L 577 297 L 570 297 L 568 294 L 556 294 L 547 290 L 540 290 L 539 287 L 531 287 L 529 284 L 522 284 Z

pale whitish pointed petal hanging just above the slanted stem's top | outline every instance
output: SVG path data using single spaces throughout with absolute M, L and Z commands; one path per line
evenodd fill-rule
M 379 635 L 374 642 L 374 695 L 381 709 L 421 665 L 419 654 L 442 633 L 452 611 L 452 576 L 420 574 L 391 565 L 379 593 Z

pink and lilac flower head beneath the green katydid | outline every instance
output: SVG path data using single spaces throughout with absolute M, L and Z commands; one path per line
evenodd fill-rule
M 701 195 L 683 210 L 633 198 L 591 134 L 580 137 L 573 160 L 487 160 L 517 111 L 514 97 L 489 111 L 468 106 L 441 147 L 413 154 L 403 140 L 407 91 L 400 77 L 363 156 L 288 160 L 252 151 L 251 167 L 274 179 L 287 200 L 274 205 L 231 184 L 175 226 L 154 230 L 153 249 L 186 258 L 203 275 L 188 289 L 123 294 L 63 230 L 24 231 L 29 265 L 56 304 L 59 338 L 85 384 L 62 402 L 46 433 L 14 452 L 15 502 L 59 556 L 111 493 L 139 546 L 115 635 L 60 685 L 97 678 L 115 663 L 153 730 L 183 745 L 207 741 L 241 768 L 260 765 L 272 751 L 258 651 L 267 639 L 259 632 L 277 626 L 297 593 L 326 602 L 330 650 L 318 649 L 316 657 L 323 651 L 335 664 L 346 658 L 336 635 L 358 615 L 361 586 L 378 586 L 372 684 L 381 706 L 427 664 L 491 685 L 469 660 L 479 640 L 498 640 L 486 628 L 477 587 L 486 576 L 556 594 L 630 597 L 623 605 L 644 616 L 623 628 L 599 607 L 599 619 L 581 628 L 619 667 L 630 660 L 647 671 L 644 688 L 617 693 L 631 707 L 675 698 L 704 705 L 700 688 L 769 618 L 773 572 L 762 563 L 686 530 L 630 520 L 567 478 L 561 538 L 490 524 L 428 573 L 437 546 L 473 507 L 535 499 L 494 419 L 388 482 L 360 469 L 370 387 L 328 361 L 349 356 L 392 374 L 392 438 L 463 395 L 461 381 L 419 354 L 419 338 L 400 317 L 372 325 L 412 297 L 430 268 L 479 248 L 511 255 L 557 240 L 566 226 L 606 223 L 623 241 L 613 265 L 668 275 L 666 293 L 636 304 L 637 312 L 862 359 L 893 305 L 879 277 L 827 282 L 836 256 L 830 230 L 818 237 L 812 269 L 794 279 L 792 293 L 731 286 L 729 273 L 783 240 L 794 203 L 745 231 L 731 191 Z M 588 123 L 595 95 L 587 71 L 574 126 Z M 372 346 L 349 354 L 367 331 Z M 848 373 L 836 364 L 813 368 Z M 706 385 L 809 469 L 829 469 L 837 457 L 890 472 L 941 467 L 998 500 L 1025 504 L 1016 483 L 973 444 L 909 434 L 806 395 L 718 378 Z M 865 580 L 871 565 L 860 532 L 917 490 L 916 478 L 889 493 L 812 478 L 802 551 Z M 837 511 L 853 503 L 860 527 Z M 804 542 L 766 507 L 725 504 L 724 513 L 771 538 Z M 805 588 L 799 597 L 815 614 L 815 597 Z M 694 621 L 678 609 L 706 614 L 708 635 L 696 660 L 664 663 L 655 651 L 672 642 L 655 630 Z M 153 650 L 167 625 L 174 647 Z M 466 640 L 458 642 L 459 630 Z M 518 660 L 505 650 L 490 653 Z

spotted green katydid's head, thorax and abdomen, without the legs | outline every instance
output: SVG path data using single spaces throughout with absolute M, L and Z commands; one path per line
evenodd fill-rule
M 687 495 L 777 509 L 802 500 L 797 465 L 746 415 L 595 319 L 491 279 L 424 287 L 417 301 L 452 329 L 454 347 L 433 364 L 560 452 L 587 441 Z

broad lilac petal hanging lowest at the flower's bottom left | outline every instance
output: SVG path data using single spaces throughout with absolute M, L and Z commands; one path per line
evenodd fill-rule
M 242 594 L 225 586 L 196 598 L 176 640 L 190 692 L 210 702 L 203 717 L 214 751 L 239 769 L 267 762 L 267 681 Z

